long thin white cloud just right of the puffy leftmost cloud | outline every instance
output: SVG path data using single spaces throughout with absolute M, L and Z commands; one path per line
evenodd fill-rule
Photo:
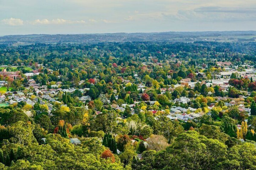
M 73 23 L 85 23 L 84 20 L 64 20 L 64 19 L 54 19 L 54 20 L 47 20 L 47 19 L 43 19 L 43 20 L 34 20 L 32 22 L 33 25 L 37 25 L 37 24 L 73 24 Z

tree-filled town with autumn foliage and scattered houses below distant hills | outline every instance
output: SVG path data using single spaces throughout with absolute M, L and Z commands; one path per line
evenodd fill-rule
M 255 51 L 256 42 L 0 45 L 0 169 L 256 169 Z

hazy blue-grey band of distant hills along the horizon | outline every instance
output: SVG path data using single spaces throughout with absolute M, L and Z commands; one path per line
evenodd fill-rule
M 152 32 L 152 33 L 104 33 L 104 34 L 31 34 L 0 37 L 0 44 L 22 45 L 34 43 L 100 43 L 100 42 L 194 42 L 255 41 L 256 31 L 216 32 Z

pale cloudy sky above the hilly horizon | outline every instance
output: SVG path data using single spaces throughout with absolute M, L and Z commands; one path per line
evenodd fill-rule
M 0 35 L 256 30 L 256 0 L 0 0 Z

